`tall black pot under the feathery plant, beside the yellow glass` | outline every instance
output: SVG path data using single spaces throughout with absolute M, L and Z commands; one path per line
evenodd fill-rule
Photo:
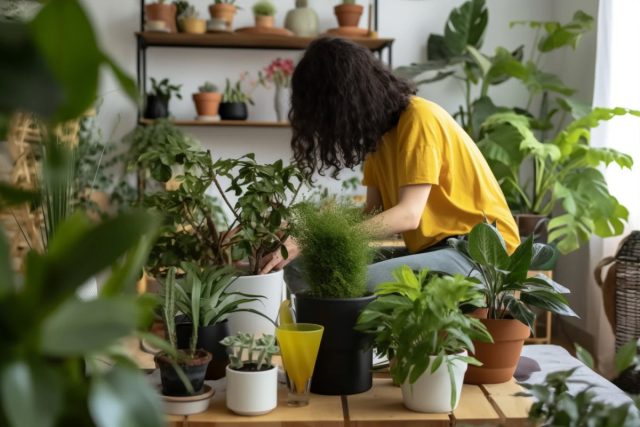
M 300 323 L 324 326 L 311 391 L 325 395 L 362 393 L 371 388 L 373 351 L 370 336 L 354 331 L 360 312 L 375 295 L 352 299 L 313 298 L 296 294 Z

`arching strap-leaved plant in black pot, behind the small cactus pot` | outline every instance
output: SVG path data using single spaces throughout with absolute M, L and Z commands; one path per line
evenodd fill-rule
M 178 348 L 188 348 L 193 334 L 194 319 L 197 325 L 198 339 L 196 348 L 211 353 L 211 362 L 205 379 L 217 380 L 225 374 L 229 363 L 227 352 L 220 341 L 229 336 L 227 318 L 232 313 L 250 312 L 259 316 L 262 313 L 251 309 L 243 309 L 241 304 L 258 301 L 256 295 L 231 292 L 230 286 L 237 278 L 237 272 L 229 266 L 210 266 L 200 268 L 193 263 L 182 263 L 186 275 L 178 281 L 176 287 L 176 307 L 183 313 L 176 318 L 176 338 Z M 192 312 L 192 302 L 199 299 L 199 313 Z

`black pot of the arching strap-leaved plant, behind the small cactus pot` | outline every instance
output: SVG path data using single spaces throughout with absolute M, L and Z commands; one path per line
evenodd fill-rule
M 191 339 L 193 323 L 186 316 L 176 317 L 176 335 L 178 348 L 188 348 Z M 229 322 L 226 320 L 215 325 L 200 326 L 198 328 L 198 342 L 196 348 L 211 353 L 211 362 L 207 368 L 207 380 L 218 380 L 225 376 L 225 368 L 229 364 L 229 356 L 225 346 L 220 341 L 229 336 Z

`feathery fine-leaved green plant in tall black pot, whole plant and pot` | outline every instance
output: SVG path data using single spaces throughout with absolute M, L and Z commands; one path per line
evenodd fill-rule
M 372 385 L 368 337 L 354 330 L 360 312 L 375 299 L 367 294 L 371 235 L 360 210 L 329 204 L 297 210 L 293 235 L 301 246 L 302 274 L 308 290 L 295 295 L 297 320 L 324 326 L 311 391 L 343 395 Z

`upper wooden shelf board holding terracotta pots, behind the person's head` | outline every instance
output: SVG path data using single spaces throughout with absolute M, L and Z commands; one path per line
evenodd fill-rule
M 138 32 L 138 40 L 144 46 L 158 47 L 211 47 L 211 48 L 235 48 L 235 49 L 283 49 L 303 50 L 315 38 L 279 36 L 279 35 L 253 35 L 243 33 L 160 33 Z M 374 52 L 391 46 L 394 39 L 349 37 L 349 40 L 358 43 Z

